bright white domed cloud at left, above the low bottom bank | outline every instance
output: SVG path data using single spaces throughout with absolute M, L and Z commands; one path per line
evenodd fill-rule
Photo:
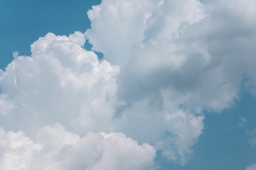
M 15 53 L 5 71 L 0 70 L 1 123 L 34 134 L 55 122 L 81 125 L 85 133 L 100 131 L 96 119 L 101 127 L 109 125 L 119 67 L 99 63 L 94 52 L 81 47 L 84 42 L 80 32 L 69 37 L 48 33 L 31 45 L 31 57 Z M 79 116 L 88 123 L 77 121 Z

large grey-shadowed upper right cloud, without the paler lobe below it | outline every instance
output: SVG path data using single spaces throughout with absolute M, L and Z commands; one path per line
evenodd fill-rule
M 134 99 L 131 99 L 131 94 L 141 96 L 141 93 L 144 95 L 143 93 L 151 93 L 157 90 L 156 88 L 171 86 L 181 93 L 180 96 L 188 97 L 189 102 L 186 103 L 190 105 L 189 107 L 198 106 L 221 112 L 224 108 L 232 106 L 234 100 L 238 98 L 243 76 L 254 77 L 252 63 L 255 63 L 255 59 L 252 57 L 254 54 L 252 44 L 255 41 L 253 36 L 255 2 L 250 0 L 248 3 L 244 1 L 231 3 L 228 0 L 214 3 L 197 0 L 150 1 L 149 4 L 153 3 L 153 7 L 147 8 L 146 4 L 142 5 L 150 16 L 146 18 L 146 22 L 141 20 L 141 23 L 146 23 L 142 31 L 136 34 L 120 32 L 120 35 L 117 35 L 110 33 L 108 29 L 103 29 L 102 25 L 111 26 L 112 32 L 119 33 L 120 29 L 115 27 L 121 25 L 119 21 L 126 22 L 133 19 L 131 15 L 123 15 L 125 10 L 114 10 L 126 7 L 126 3 L 129 3 L 127 7 L 129 11 L 132 5 L 136 7 L 139 6 L 137 3 L 143 4 L 144 1 L 103 0 L 102 4 L 88 12 L 89 18 L 92 15 L 92 28 L 86 31 L 85 36 L 93 35 L 97 31 L 97 35 L 111 36 L 108 38 L 108 46 L 119 43 L 129 48 L 127 49 L 130 53 L 129 61 L 120 76 L 125 78 L 120 78 L 120 82 L 121 90 L 122 86 L 125 86 L 124 96 L 129 95 L 127 98 L 130 100 Z M 247 12 L 243 13 L 243 11 Z M 103 16 L 112 16 L 114 13 L 118 18 L 109 17 L 111 23 L 103 19 Z M 138 13 L 138 16 L 141 15 Z M 124 29 L 134 29 L 134 24 Z M 126 35 L 136 38 L 137 34 L 143 39 L 122 42 L 126 40 Z M 103 50 L 106 46 L 94 43 L 101 39 L 94 36 L 88 38 L 93 48 L 99 49 L 108 58 L 108 53 Z M 113 53 L 112 58 L 108 58 L 110 62 L 121 58 L 121 55 L 114 54 L 119 49 L 108 48 L 108 50 Z M 195 100 L 191 102 L 193 99 L 189 96 Z

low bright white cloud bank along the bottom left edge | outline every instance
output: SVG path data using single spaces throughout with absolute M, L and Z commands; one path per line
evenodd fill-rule
M 0 129 L 0 168 L 9 170 L 154 170 L 155 149 L 123 133 L 79 137 L 60 124 L 44 126 L 34 143 L 24 132 Z

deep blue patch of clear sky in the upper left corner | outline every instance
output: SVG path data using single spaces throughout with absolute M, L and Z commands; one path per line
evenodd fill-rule
M 21 55 L 31 55 L 30 44 L 49 32 L 57 35 L 69 35 L 74 31 L 85 32 L 90 28 L 90 20 L 86 13 L 92 5 L 100 2 L 2 0 L 0 67 L 4 68 L 11 62 L 12 51 L 18 51 Z

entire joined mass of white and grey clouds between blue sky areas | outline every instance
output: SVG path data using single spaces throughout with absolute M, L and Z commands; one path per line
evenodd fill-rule
M 1 162 L 153 170 L 160 150 L 185 165 L 204 111 L 233 106 L 245 76 L 255 95 L 256 4 L 247 2 L 102 0 L 84 34 L 48 33 L 31 57 L 13 53 L 0 70 Z

